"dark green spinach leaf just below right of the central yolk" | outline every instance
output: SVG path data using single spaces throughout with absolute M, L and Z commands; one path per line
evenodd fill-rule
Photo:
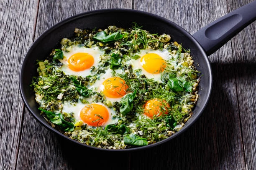
M 129 93 L 121 98 L 121 107 L 119 109 L 120 113 L 126 115 L 133 109 L 133 100 L 136 96 L 136 90 L 133 93 Z

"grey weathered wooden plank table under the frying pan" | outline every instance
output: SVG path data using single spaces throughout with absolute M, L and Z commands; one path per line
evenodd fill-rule
M 209 104 L 174 140 L 132 153 L 82 149 L 51 133 L 28 112 L 19 70 L 34 40 L 72 15 L 129 8 L 160 15 L 190 33 L 252 0 L 1 0 L 0 169 L 254 169 L 256 168 L 256 22 L 209 56 Z

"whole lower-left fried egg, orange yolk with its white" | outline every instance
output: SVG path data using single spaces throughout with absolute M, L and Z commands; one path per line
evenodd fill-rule
M 118 118 L 114 118 L 115 111 L 102 103 L 84 104 L 82 102 L 71 103 L 64 102 L 62 112 L 74 113 L 75 126 L 98 127 L 118 122 Z

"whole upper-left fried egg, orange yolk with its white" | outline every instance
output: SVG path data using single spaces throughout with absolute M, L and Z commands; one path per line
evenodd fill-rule
M 72 45 L 67 50 L 69 52 L 63 51 L 64 58 L 60 60 L 64 64 L 61 66 L 61 70 L 67 75 L 82 77 L 91 74 L 90 68 L 97 66 L 100 55 L 104 54 L 104 51 L 97 46 L 87 48 L 81 45 Z

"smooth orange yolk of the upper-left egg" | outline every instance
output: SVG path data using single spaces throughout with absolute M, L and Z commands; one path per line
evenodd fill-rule
M 68 59 L 68 67 L 73 71 L 82 71 L 90 68 L 94 63 L 92 55 L 85 52 L 78 52 Z

